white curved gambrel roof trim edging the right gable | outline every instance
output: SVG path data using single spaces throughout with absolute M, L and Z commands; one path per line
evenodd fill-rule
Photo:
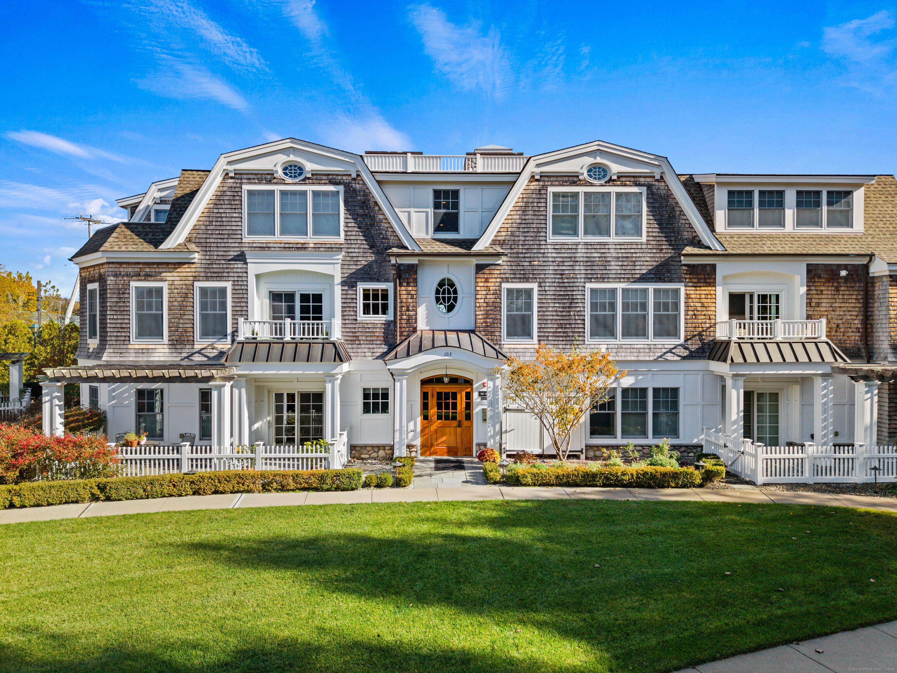
M 510 209 L 514 206 L 514 204 L 517 203 L 520 194 L 523 192 L 524 188 L 527 187 L 530 177 L 535 177 L 537 179 L 540 172 L 544 172 L 547 174 L 548 171 L 540 170 L 539 167 L 541 164 L 556 162 L 565 157 L 575 156 L 577 154 L 592 153 L 596 151 L 606 153 L 607 155 L 616 154 L 619 156 L 636 159 L 639 162 L 656 165 L 659 169 L 659 172 L 663 175 L 664 178 L 666 178 L 666 184 L 673 192 L 673 196 L 675 196 L 676 201 L 679 202 L 679 205 L 684 210 L 684 213 L 688 217 L 689 222 L 692 223 L 692 227 L 697 233 L 698 238 L 701 239 L 701 242 L 703 242 L 704 245 L 708 246 L 712 250 L 725 250 L 725 247 L 717 240 L 716 236 L 713 235 L 713 232 L 710 232 L 710 227 L 707 225 L 707 223 L 704 222 L 703 217 L 701 217 L 701 214 L 698 212 L 698 208 L 692 202 L 692 198 L 689 197 L 688 192 L 685 191 L 682 180 L 679 179 L 678 175 L 675 173 L 675 170 L 673 170 L 673 166 L 670 165 L 670 162 L 668 159 L 666 159 L 666 157 L 649 153 L 641 153 L 637 150 L 631 150 L 627 147 L 621 147 L 620 145 L 604 143 L 601 141 L 596 141 L 594 143 L 588 144 L 580 144 L 564 150 L 558 150 L 555 152 L 539 154 L 537 156 L 530 157 L 527 160 L 527 163 L 524 165 L 523 170 L 520 171 L 513 187 L 510 188 L 507 196 L 501 202 L 498 210 L 495 211 L 495 214 L 492 215 L 492 221 L 489 223 L 489 226 L 486 227 L 486 231 L 483 232 L 483 235 L 480 237 L 480 239 L 476 241 L 473 249 L 482 250 L 492 243 L 492 239 L 499 231 L 501 224 L 504 223 L 505 218 L 510 213 Z M 646 172 L 644 174 L 644 177 L 648 179 L 650 176 L 650 179 L 655 179 L 657 172 L 657 170 L 655 170 L 653 173 Z

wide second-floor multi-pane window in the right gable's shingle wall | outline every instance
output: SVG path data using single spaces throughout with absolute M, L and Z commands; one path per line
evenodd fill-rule
M 587 285 L 587 341 L 681 341 L 682 293 L 681 285 Z

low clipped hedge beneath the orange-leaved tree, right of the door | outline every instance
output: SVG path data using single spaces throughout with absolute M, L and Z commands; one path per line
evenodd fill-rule
M 505 480 L 518 486 L 693 488 L 701 485 L 701 473 L 692 468 L 522 468 L 508 472 Z

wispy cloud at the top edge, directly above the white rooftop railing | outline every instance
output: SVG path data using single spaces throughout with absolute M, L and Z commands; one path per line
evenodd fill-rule
M 465 91 L 481 89 L 501 98 L 512 74 L 509 53 L 498 31 L 483 32 L 477 22 L 449 22 L 445 12 L 429 4 L 412 6 L 409 18 L 423 39 L 424 52 L 451 83 Z

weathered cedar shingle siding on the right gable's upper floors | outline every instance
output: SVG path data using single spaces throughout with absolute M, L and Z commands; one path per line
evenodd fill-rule
M 706 357 L 716 319 L 715 265 L 681 264 L 682 249 L 703 244 L 665 180 L 607 183 L 647 189 L 646 242 L 548 242 L 547 189 L 590 184 L 567 176 L 529 180 L 492 239 L 507 257 L 500 265 L 476 267 L 477 331 L 501 343 L 501 283 L 538 283 L 538 340 L 564 350 L 586 340 L 585 284 L 684 283 L 683 345 L 612 344 L 608 351 L 623 360 Z

